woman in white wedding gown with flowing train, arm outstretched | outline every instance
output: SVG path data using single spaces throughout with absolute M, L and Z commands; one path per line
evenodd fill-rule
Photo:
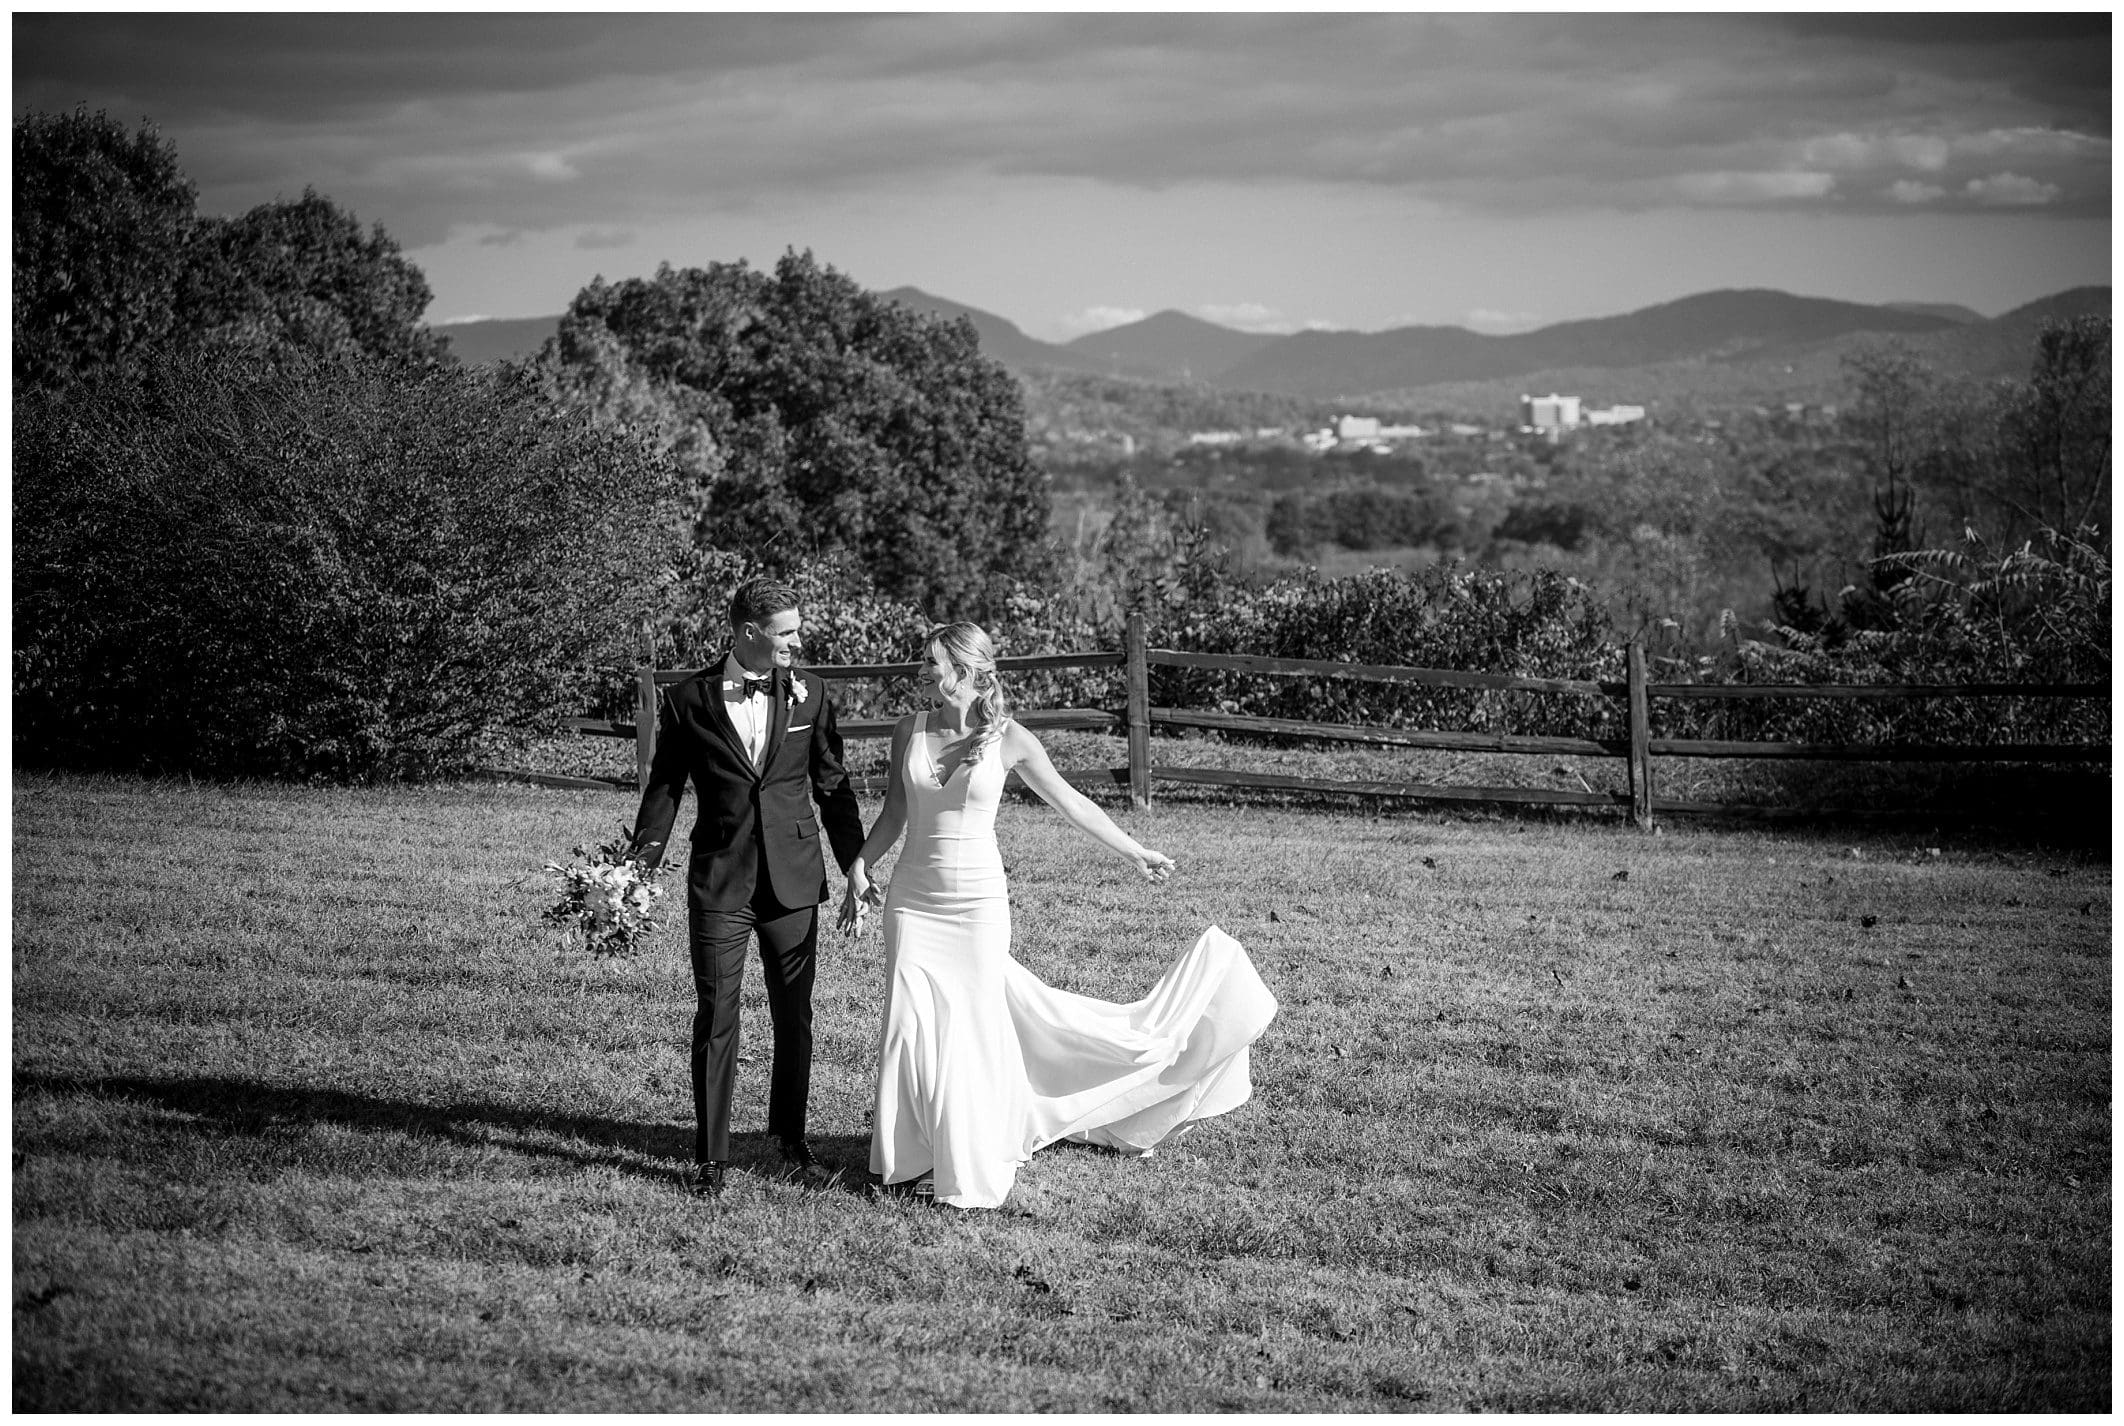
M 1245 948 L 1211 927 L 1151 992 L 1115 1005 L 1056 990 L 1011 958 L 996 803 L 1015 771 L 1073 827 L 1149 882 L 1175 863 L 1062 780 L 1007 716 L 996 650 L 971 623 L 932 629 L 920 691 L 932 712 L 892 729 L 886 808 L 847 867 L 841 929 L 884 907 L 871 1171 L 954 1207 L 998 1207 L 1017 1165 L 1058 1139 L 1132 1154 L 1253 1094 L 1247 1046 L 1277 999 Z M 907 833 L 879 897 L 871 867 Z

